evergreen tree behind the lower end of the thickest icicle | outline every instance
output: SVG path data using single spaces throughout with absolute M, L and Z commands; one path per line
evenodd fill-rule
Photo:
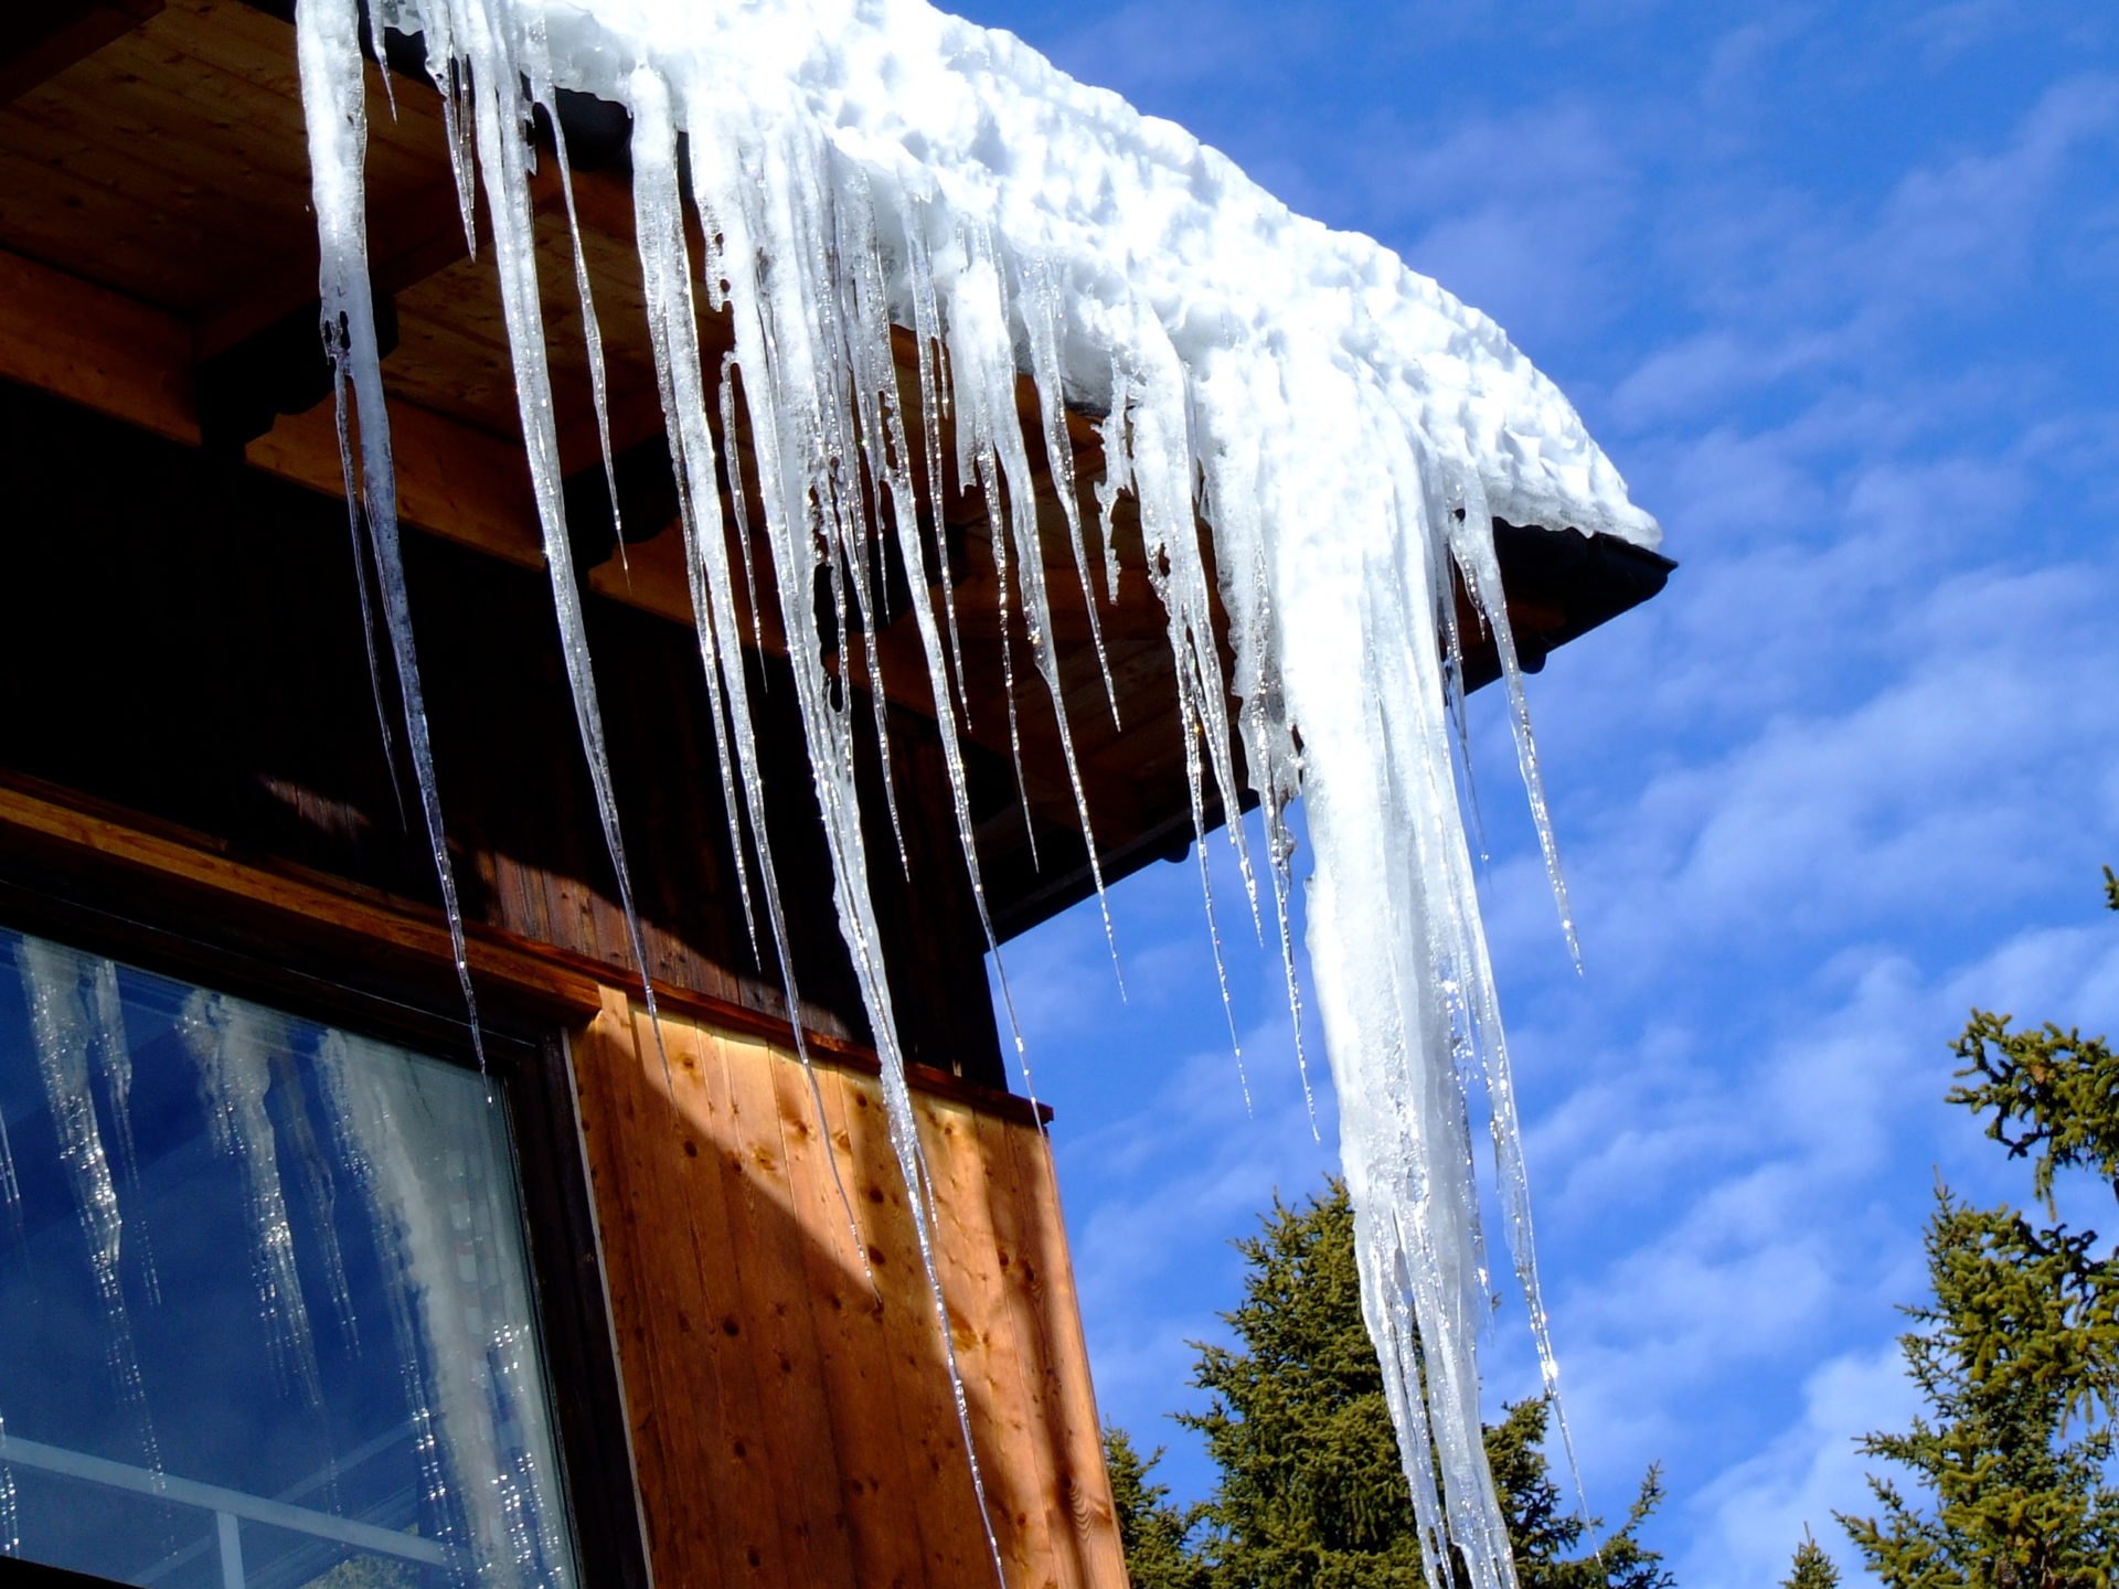
M 1354 1212 L 1341 1182 L 1301 1208 L 1274 1201 L 1248 1261 L 1244 1301 L 1227 1314 L 1237 1345 L 1201 1345 L 1193 1383 L 1212 1400 L 1180 1422 L 1206 1436 L 1221 1470 L 1189 1513 L 1146 1483 L 1132 1445 L 1112 1462 L 1136 1589 L 1420 1589 L 1420 1536 L 1384 1400 L 1384 1373 L 1360 1320 Z M 1507 1409 L 1485 1432 L 1524 1589 L 1666 1589 L 1661 1557 L 1636 1538 L 1661 1500 L 1651 1468 L 1625 1528 L 1587 1549 L 1596 1521 L 1564 1511 L 1543 1441 L 1547 1405 Z M 1153 1462 L 1153 1460 L 1151 1460 Z M 1123 1477 L 1121 1477 L 1123 1468 Z M 1170 1576 L 1176 1530 L 1204 1576 Z M 1148 1545 L 1136 1561 L 1132 1538 Z

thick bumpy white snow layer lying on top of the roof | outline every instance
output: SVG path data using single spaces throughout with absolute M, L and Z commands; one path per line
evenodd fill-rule
M 1511 523 L 1655 547 L 1653 517 L 1560 390 L 1485 314 L 1371 237 L 1290 212 L 1225 155 L 1015 34 L 922 0 L 549 0 L 559 83 L 627 100 L 634 68 L 742 119 L 807 121 L 877 186 L 985 220 L 1053 269 L 1068 390 L 1102 403 L 1134 303 L 1189 369 L 1305 345 L 1375 386 Z M 1333 449 L 1339 451 L 1339 449 Z

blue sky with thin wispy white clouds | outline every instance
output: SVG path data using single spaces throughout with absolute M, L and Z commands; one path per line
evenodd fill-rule
M 1803 1523 L 1911 1409 L 1894 1305 L 1973 1004 L 2119 1028 L 2119 13 L 2096 0 L 1513 6 L 990 0 L 1076 76 L 1492 311 L 1668 530 L 1663 597 L 1532 682 L 1587 970 L 1479 699 L 1488 922 L 1591 1502 L 1649 1462 L 1687 1589 Z M 1233 888 L 1233 883 L 1229 883 Z M 1197 875 L 1011 947 L 1106 1420 L 1170 1443 L 1227 1239 L 1333 1161 L 1271 958 Z M 2108 1210 L 2104 1222 L 2108 1222 Z M 1530 1388 L 1521 1311 L 1490 1347 Z

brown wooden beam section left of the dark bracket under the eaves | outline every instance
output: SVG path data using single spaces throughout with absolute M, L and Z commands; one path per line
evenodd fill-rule
M 191 339 L 174 316 L 0 252 L 0 377 L 197 443 Z

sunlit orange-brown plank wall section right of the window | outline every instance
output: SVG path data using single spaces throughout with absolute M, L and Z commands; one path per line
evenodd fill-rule
M 574 1068 L 657 1583 L 992 1585 L 877 1081 L 617 992 Z M 1045 1138 L 915 1108 L 1007 1585 L 1123 1589 Z

